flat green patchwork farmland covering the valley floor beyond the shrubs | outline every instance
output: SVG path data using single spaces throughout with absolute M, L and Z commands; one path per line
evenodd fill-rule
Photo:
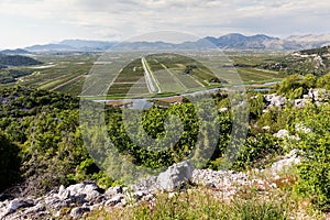
M 163 97 L 231 84 L 262 85 L 264 81 L 278 81 L 285 73 L 263 66 L 280 62 L 286 56 L 273 52 L 230 52 L 226 55 L 213 52 L 187 52 L 182 55 L 147 52 L 116 52 L 106 55 L 47 53 L 33 56 L 42 65 L 12 67 L 16 72 L 26 72 L 26 75 L 19 76 L 14 82 L 0 84 L 0 87 L 19 84 L 74 96 L 82 92 L 110 98 Z M 147 82 L 142 57 L 150 72 L 151 82 Z M 193 68 L 187 74 L 185 72 L 189 66 Z M 9 69 L 2 72 L 7 74 Z M 92 80 L 86 80 L 88 73 L 94 73 Z M 211 81 L 216 76 L 222 84 Z M 153 91 L 150 84 L 154 87 Z

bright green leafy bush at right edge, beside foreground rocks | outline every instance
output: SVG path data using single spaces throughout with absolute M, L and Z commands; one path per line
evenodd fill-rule
M 304 162 L 298 166 L 299 180 L 295 190 L 309 198 L 320 210 L 330 210 L 330 106 L 308 107 L 297 117 L 297 122 L 309 129 L 298 131 L 298 147 Z

